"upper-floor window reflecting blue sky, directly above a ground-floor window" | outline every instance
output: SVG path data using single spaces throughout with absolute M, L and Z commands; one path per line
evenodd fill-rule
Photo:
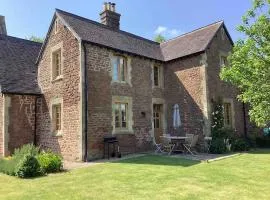
M 112 66 L 113 80 L 127 82 L 127 59 L 122 56 L 114 56 Z

